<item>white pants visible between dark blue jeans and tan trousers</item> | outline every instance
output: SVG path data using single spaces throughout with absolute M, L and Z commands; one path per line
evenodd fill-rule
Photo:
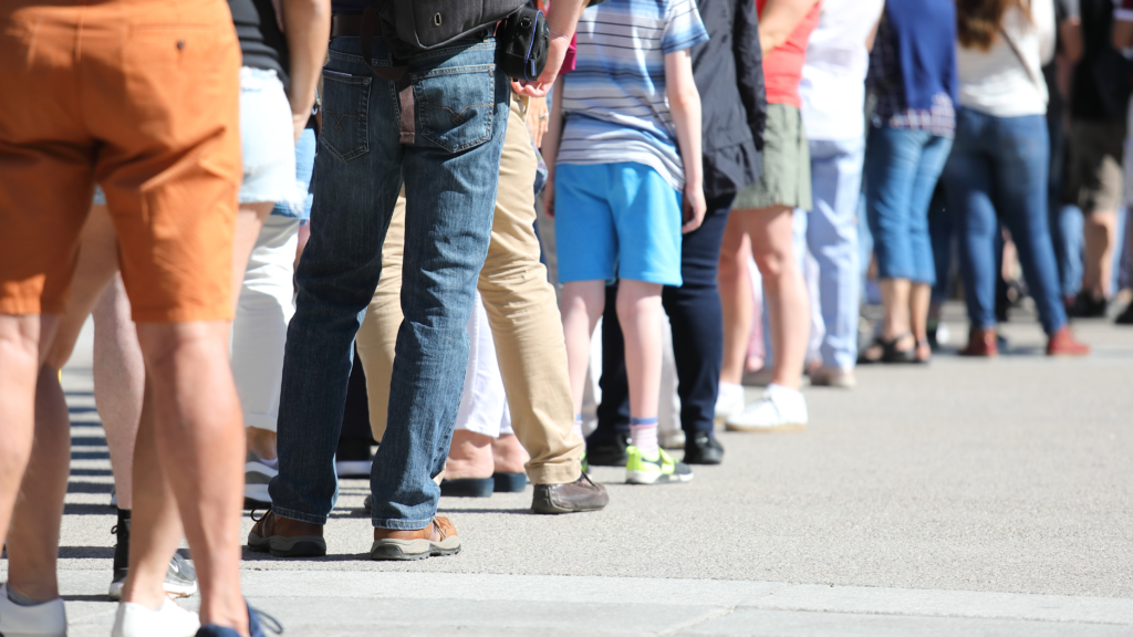
M 465 393 L 460 397 L 455 428 L 492 438 L 514 434 L 503 376 L 495 356 L 495 340 L 479 291 L 476 292 L 472 314 L 468 317 L 468 370 L 465 372 Z

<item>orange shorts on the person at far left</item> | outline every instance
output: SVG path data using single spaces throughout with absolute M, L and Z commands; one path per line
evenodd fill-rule
M 224 0 L 0 2 L 0 314 L 61 314 L 94 184 L 138 322 L 229 320 L 240 49 Z

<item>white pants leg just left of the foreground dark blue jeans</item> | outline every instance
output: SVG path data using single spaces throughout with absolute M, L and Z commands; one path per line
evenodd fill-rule
M 232 375 L 248 427 L 275 431 L 287 325 L 295 315 L 299 220 L 271 215 L 248 260 L 232 323 Z

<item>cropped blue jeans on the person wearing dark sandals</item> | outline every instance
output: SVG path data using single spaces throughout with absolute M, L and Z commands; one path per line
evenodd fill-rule
M 952 139 L 926 130 L 870 127 L 866 215 L 881 279 L 936 282 L 928 204 Z

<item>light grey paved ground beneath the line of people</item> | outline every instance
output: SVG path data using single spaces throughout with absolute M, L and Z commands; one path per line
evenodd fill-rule
M 945 353 L 807 389 L 809 431 L 721 433 L 725 464 L 685 485 L 597 468 L 602 512 L 534 516 L 530 489 L 443 499 L 452 558 L 366 560 L 367 483 L 344 481 L 331 554 L 246 554 L 247 593 L 288 635 L 1133 635 L 1133 329 L 1075 330 L 1092 357 L 1042 357 L 1021 321 L 998 360 Z M 88 354 L 65 385 L 61 581 L 71 635 L 107 635 L 114 518 Z

